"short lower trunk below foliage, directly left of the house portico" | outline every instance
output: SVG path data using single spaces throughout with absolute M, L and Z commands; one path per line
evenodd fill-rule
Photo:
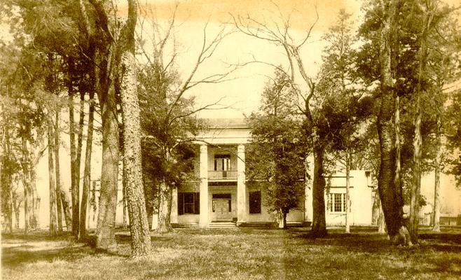
M 165 178 L 160 182 L 158 190 L 158 225 L 157 232 L 165 233 L 173 230 L 171 226 L 172 188 Z

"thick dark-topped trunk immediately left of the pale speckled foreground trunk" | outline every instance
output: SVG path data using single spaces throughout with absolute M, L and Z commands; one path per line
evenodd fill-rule
M 109 14 L 113 12 L 110 1 L 90 1 L 92 13 L 79 1 L 85 35 L 90 48 L 94 48 L 95 92 L 99 99 L 102 119 L 102 172 L 99 212 L 96 228 L 96 248 L 111 251 L 116 248 L 115 214 L 118 186 L 119 132 L 116 92 L 113 87 L 114 38 L 109 27 Z M 91 15 L 91 16 L 89 16 Z M 91 22 L 90 22 L 91 21 Z M 109 67 L 109 64 L 113 64 Z

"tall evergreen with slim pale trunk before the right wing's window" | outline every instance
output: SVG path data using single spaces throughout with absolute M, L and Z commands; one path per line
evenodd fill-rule
M 329 45 L 324 50 L 317 89 L 329 96 L 322 111 L 331 132 L 330 150 L 339 153 L 338 160 L 343 160 L 345 167 L 345 232 L 350 232 L 351 158 L 364 146 L 359 129 L 368 125 L 365 120 L 373 109 L 373 102 L 369 94 L 364 96 L 366 92 L 359 90 L 360 86 L 366 88 L 366 85 L 355 75 L 350 14 L 340 10 L 338 20 L 325 39 Z

